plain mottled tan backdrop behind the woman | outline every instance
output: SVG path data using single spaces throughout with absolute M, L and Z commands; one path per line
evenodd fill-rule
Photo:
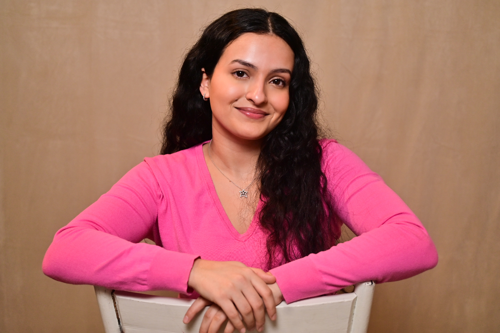
M 0 332 L 102 332 L 92 288 L 43 254 L 158 153 L 181 54 L 238 3 L 0 0 Z M 500 332 L 500 1 L 246 4 L 297 24 L 325 119 L 437 246 L 435 269 L 376 287 L 369 332 Z

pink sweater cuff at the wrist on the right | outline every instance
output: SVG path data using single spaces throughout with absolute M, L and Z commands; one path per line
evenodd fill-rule
M 287 304 L 327 293 L 316 266 L 309 257 L 270 270 Z

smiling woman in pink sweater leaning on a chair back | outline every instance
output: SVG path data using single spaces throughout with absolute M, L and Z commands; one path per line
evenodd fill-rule
M 200 332 L 257 329 L 264 306 L 396 281 L 437 263 L 421 223 L 335 140 L 319 140 L 302 41 L 280 15 L 228 12 L 187 53 L 161 154 L 57 232 L 43 272 L 112 289 L 172 290 Z M 341 223 L 358 237 L 336 244 Z M 139 243 L 144 238 L 156 245 Z M 266 273 L 264 273 L 266 272 Z M 240 318 L 241 315 L 241 318 Z

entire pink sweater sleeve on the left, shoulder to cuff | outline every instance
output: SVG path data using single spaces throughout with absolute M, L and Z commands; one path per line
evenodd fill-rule
M 138 243 L 146 237 L 159 241 L 154 227 L 161 202 L 153 172 L 140 163 L 55 234 L 43 273 L 71 284 L 189 292 L 198 256 Z

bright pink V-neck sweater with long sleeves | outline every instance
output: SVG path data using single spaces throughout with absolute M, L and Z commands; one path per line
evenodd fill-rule
M 273 268 L 285 301 L 362 281 L 401 280 L 434 267 L 434 244 L 404 202 L 350 150 L 334 140 L 321 145 L 337 214 L 357 237 Z M 144 238 L 158 246 L 139 243 Z M 198 144 L 145 158 L 126 173 L 55 234 L 42 268 L 66 283 L 190 294 L 187 280 L 196 258 L 264 269 L 265 253 L 265 233 L 255 217 L 242 235 L 231 225 Z

